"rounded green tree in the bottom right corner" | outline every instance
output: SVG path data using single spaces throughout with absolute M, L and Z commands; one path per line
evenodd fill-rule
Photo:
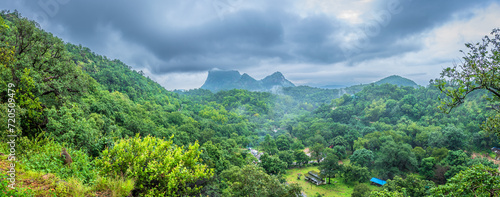
M 498 196 L 498 169 L 474 165 L 450 178 L 445 185 L 431 189 L 434 196 Z

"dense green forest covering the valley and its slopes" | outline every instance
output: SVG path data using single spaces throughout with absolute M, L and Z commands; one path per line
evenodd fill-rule
M 498 196 L 498 165 L 487 158 L 500 147 L 499 33 L 491 46 L 467 45 L 464 64 L 481 72 L 455 66 L 426 87 L 171 92 L 3 11 L 4 169 L 7 135 L 17 137 L 15 189 L 2 170 L 0 195 L 299 196 L 304 188 L 284 175 L 317 166 L 352 196 Z M 387 184 L 369 188 L 372 177 Z

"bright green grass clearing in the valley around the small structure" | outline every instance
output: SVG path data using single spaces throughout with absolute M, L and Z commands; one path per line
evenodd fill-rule
M 337 178 L 332 178 L 331 179 L 331 184 L 325 184 L 325 185 L 315 185 L 313 183 L 310 183 L 306 180 L 304 180 L 304 176 L 300 177 L 300 180 L 297 180 L 297 174 L 301 173 L 302 175 L 307 174 L 307 172 L 315 170 L 319 171 L 317 166 L 313 167 L 304 167 L 304 168 L 294 168 L 294 169 L 288 169 L 287 173 L 285 175 L 286 181 L 288 183 L 298 183 L 300 187 L 304 190 L 304 193 L 308 197 L 315 196 L 316 193 L 319 193 L 323 196 L 351 196 L 353 192 L 353 188 L 356 185 L 355 183 L 350 184 L 350 183 L 345 183 L 344 179 L 337 177 Z M 328 178 L 326 179 L 328 182 Z M 335 181 L 337 183 L 335 183 Z M 366 183 L 363 183 L 368 185 L 368 187 L 371 190 L 376 190 L 378 189 L 377 186 L 370 185 L 368 181 Z

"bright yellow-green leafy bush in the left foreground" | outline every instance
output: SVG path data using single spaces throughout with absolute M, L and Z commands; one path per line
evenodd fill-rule
M 172 139 L 136 135 L 104 150 L 96 165 L 103 175 L 135 179 L 136 192 L 142 195 L 193 195 L 203 187 L 197 181 L 213 175 L 213 170 L 199 163 L 198 147 L 195 143 L 184 150 Z

